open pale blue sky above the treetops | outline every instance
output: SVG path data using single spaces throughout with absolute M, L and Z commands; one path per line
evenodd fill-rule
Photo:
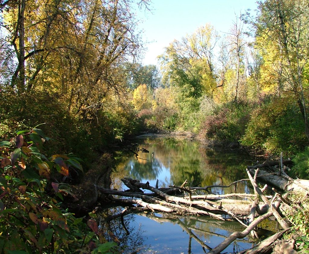
M 210 23 L 218 33 L 229 32 L 236 15 L 247 9 L 255 11 L 257 0 L 152 0 L 149 11 L 137 13 L 143 21 L 142 39 L 147 48 L 144 65 L 158 64 L 157 56 L 163 54 L 174 39 L 180 40 L 197 28 Z

